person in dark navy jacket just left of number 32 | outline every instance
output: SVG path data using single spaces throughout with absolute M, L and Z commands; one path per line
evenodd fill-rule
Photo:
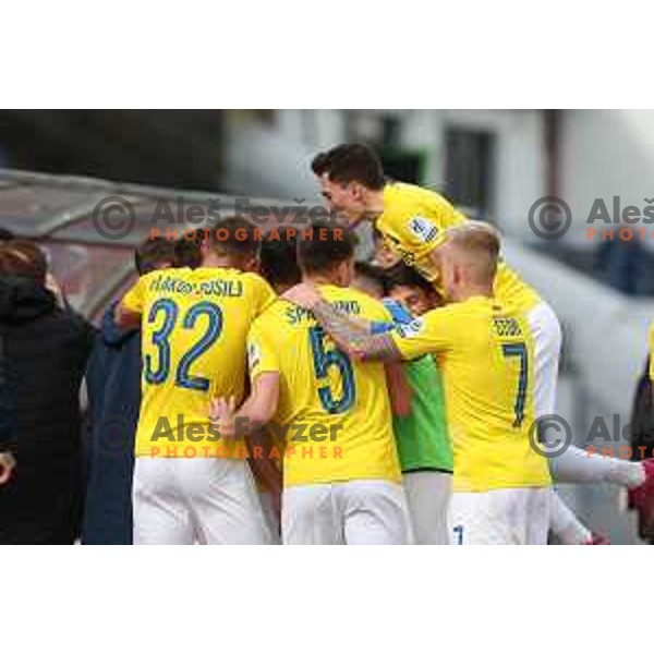
M 173 241 L 146 241 L 135 254 L 138 275 L 185 265 Z M 186 252 L 184 250 L 184 252 Z M 132 544 L 134 435 L 141 405 L 141 332 L 122 330 L 107 308 L 86 373 L 90 440 L 83 545 Z

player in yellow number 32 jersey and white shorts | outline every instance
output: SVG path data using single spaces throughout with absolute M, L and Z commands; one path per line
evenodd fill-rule
M 249 271 L 257 254 L 253 228 L 227 218 L 199 268 L 145 275 L 117 308 L 119 324 L 142 327 L 135 544 L 269 542 L 244 445 L 226 444 L 207 415 L 213 395 L 243 397 L 247 330 L 275 300 Z

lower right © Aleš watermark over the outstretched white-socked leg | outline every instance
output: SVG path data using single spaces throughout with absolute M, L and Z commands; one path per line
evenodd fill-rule
M 560 457 L 573 441 L 570 423 L 556 413 L 542 415 L 533 421 L 528 435 L 531 448 L 546 459 Z M 640 445 L 634 446 L 637 439 Z M 603 415 L 596 415 L 583 438 L 574 445 L 589 457 L 596 455 L 632 460 L 638 455 L 642 459 L 649 456 L 654 446 L 654 434 L 633 434 L 631 425 L 622 424 L 618 413 L 613 414 L 608 421 Z

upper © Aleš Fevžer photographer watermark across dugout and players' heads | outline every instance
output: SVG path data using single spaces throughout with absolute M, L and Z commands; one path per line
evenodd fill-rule
M 307 205 L 306 198 L 294 197 L 292 204 L 263 204 L 250 197 L 235 197 L 222 207 L 219 197 L 207 197 L 204 202 L 175 195 L 158 198 L 156 203 L 132 202 L 122 195 L 109 195 L 94 207 L 90 219 L 96 232 L 108 241 L 120 241 L 129 237 L 136 222 L 149 228 L 150 239 L 166 238 L 189 241 L 206 234 L 225 218 L 245 218 L 255 227 L 272 228 L 310 226 L 316 220 L 336 225 L 336 211 L 324 205 Z M 256 231 L 256 230 L 255 230 Z M 279 233 L 279 230 L 277 229 Z M 298 229 L 298 237 L 302 238 Z M 259 240 L 269 232 L 258 230 Z

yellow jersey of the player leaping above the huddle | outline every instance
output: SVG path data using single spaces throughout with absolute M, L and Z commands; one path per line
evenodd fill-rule
M 438 193 L 392 182 L 384 189 L 384 213 L 375 227 L 384 234 L 388 246 L 443 294 L 438 270 L 428 256 L 443 244 L 446 231 L 465 222 L 467 218 Z M 504 262 L 499 263 L 495 295 L 505 306 L 530 311 L 541 301 L 534 289 Z

